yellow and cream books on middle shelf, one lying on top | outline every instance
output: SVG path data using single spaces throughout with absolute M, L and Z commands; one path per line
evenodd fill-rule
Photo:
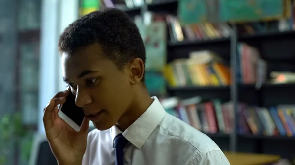
M 214 52 L 195 51 L 188 59 L 166 65 L 164 76 L 171 87 L 226 86 L 231 83 L 230 67 Z

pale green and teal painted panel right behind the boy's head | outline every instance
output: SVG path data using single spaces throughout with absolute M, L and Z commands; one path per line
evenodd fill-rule
M 165 22 L 136 24 L 146 47 L 145 84 L 153 95 L 164 95 L 166 81 L 163 70 L 167 60 L 167 36 Z

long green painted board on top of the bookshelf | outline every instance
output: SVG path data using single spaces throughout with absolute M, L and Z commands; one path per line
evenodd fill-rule
M 179 0 L 178 12 L 182 24 L 248 22 L 284 18 L 290 3 L 290 0 Z

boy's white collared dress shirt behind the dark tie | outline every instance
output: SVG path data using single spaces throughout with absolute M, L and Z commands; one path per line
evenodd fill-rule
M 207 135 L 166 113 L 158 98 L 123 133 L 118 127 L 92 130 L 82 165 L 115 165 L 113 139 L 129 141 L 124 165 L 230 165 Z

